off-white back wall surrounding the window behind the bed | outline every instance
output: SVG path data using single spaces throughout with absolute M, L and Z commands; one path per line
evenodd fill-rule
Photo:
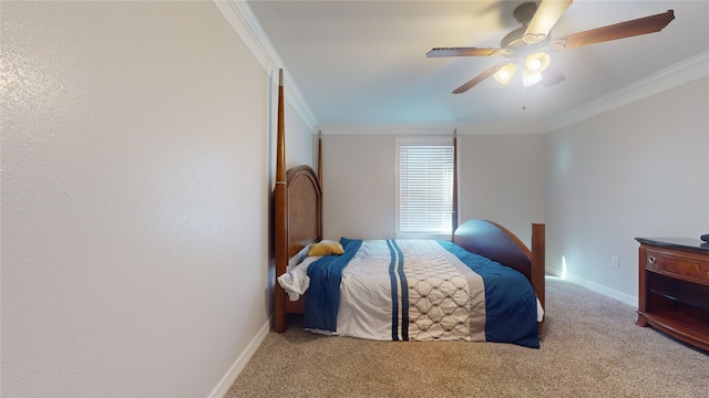
M 339 237 L 394 237 L 395 138 L 452 136 L 452 127 L 323 128 L 323 229 Z M 407 134 L 409 129 L 409 134 Z M 458 129 L 459 216 L 502 223 L 530 244 L 544 222 L 546 136 Z

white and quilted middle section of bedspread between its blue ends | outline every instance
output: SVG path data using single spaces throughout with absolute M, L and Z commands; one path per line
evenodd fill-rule
M 383 341 L 392 335 L 407 339 L 405 334 L 413 341 L 484 341 L 482 277 L 435 241 L 397 243 L 407 259 L 404 281 L 398 272 L 392 280 L 386 240 L 364 241 L 345 269 L 337 334 Z M 398 259 L 394 269 L 400 266 Z M 398 301 L 393 306 L 392 297 Z

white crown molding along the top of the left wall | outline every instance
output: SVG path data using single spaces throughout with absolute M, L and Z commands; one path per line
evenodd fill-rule
M 277 70 L 284 70 L 284 93 L 286 101 L 294 107 L 296 113 L 302 118 L 308 128 L 314 129 L 318 119 L 308 106 L 305 97 L 300 93 L 298 85 L 288 73 L 282 60 L 276 52 L 270 40 L 264 32 L 260 23 L 254 15 L 254 11 L 245 0 L 212 0 L 214 6 L 222 12 L 232 29 L 242 39 L 246 48 L 261 65 L 268 76 L 274 80 L 278 75 Z M 277 83 L 276 83 L 277 85 Z

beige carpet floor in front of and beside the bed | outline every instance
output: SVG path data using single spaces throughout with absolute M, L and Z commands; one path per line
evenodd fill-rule
M 547 277 L 542 348 L 269 333 L 226 397 L 709 397 L 709 355 Z

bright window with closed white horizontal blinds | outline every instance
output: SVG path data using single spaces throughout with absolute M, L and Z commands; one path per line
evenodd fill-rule
M 397 159 L 397 235 L 450 238 L 454 166 L 451 139 L 399 139 Z

